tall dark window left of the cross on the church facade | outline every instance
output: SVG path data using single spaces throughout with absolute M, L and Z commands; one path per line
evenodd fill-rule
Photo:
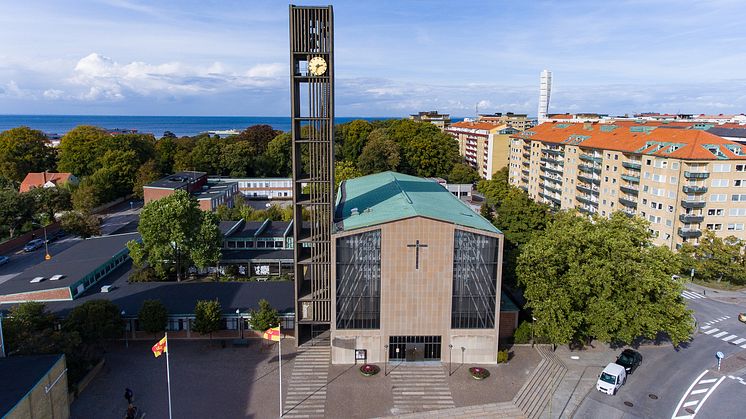
M 381 230 L 337 239 L 337 329 L 381 324 Z

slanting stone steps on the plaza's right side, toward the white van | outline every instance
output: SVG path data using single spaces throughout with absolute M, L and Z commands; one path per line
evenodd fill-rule
M 542 417 L 542 413 L 548 407 L 549 398 L 567 372 L 567 367 L 554 353 L 551 345 L 539 345 L 536 349 L 542 359 L 526 384 L 513 398 L 513 403 L 528 419 Z M 559 412 L 555 414 L 558 415 Z

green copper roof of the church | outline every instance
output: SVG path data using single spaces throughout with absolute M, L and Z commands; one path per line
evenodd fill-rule
M 357 214 L 352 214 L 353 209 Z M 334 218 L 341 230 L 416 216 L 500 232 L 443 186 L 416 176 L 396 172 L 362 176 L 343 182 L 337 193 Z

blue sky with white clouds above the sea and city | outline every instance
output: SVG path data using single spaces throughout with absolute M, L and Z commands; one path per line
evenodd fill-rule
M 337 116 L 536 115 L 543 69 L 550 112 L 746 112 L 743 0 L 331 4 Z M 0 10 L 0 114 L 289 115 L 288 3 Z

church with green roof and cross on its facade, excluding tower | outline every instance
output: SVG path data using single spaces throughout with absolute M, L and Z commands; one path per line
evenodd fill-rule
M 344 181 L 332 234 L 332 363 L 495 363 L 503 235 L 438 183 Z

